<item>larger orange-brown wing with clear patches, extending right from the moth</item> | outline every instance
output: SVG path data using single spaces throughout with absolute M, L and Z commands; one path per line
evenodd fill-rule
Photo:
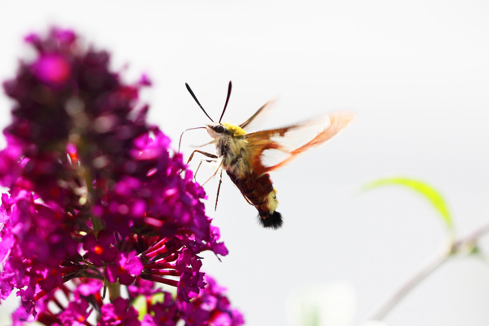
M 351 111 L 333 112 L 284 128 L 247 133 L 244 138 L 253 153 L 251 165 L 260 175 L 277 170 L 299 154 L 321 146 L 354 117 Z

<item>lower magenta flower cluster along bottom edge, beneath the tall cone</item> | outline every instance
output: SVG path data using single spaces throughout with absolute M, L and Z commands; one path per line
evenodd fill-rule
M 97 326 L 239 326 L 243 315 L 232 309 L 224 295 L 226 290 L 207 275 L 207 285 L 189 303 L 174 298 L 170 292 L 155 287 L 155 283 L 137 278 L 128 286 L 129 298 L 115 298 L 104 304 L 100 292 L 104 282 L 97 279 L 75 278 L 74 289 L 65 284 L 36 302 L 40 311 L 36 318 L 22 307 L 13 314 L 14 326 L 34 320 L 52 326 L 90 326 L 89 318 L 98 311 Z M 61 302 L 68 302 L 62 304 Z M 136 302 L 136 305 L 132 303 Z M 53 312 L 54 306 L 56 312 Z M 136 310 L 136 307 L 139 310 Z

